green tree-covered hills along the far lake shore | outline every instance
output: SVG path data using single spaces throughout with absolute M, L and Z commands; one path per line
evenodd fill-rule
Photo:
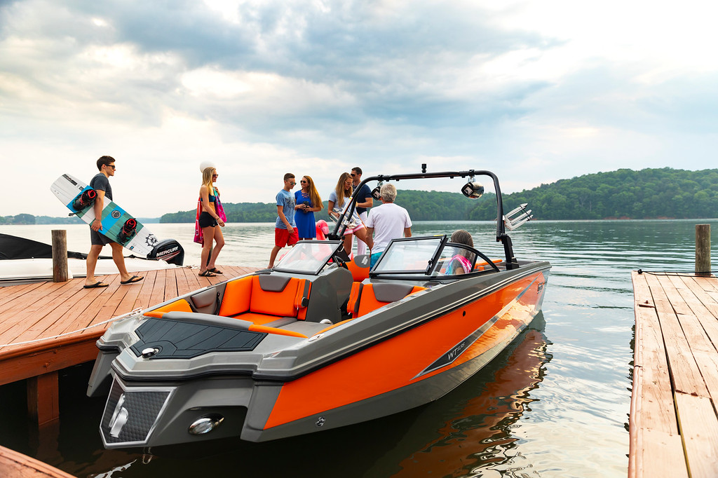
M 488 188 L 490 186 L 488 185 Z M 686 171 L 648 168 L 584 174 L 503 195 L 506 211 L 527 202 L 537 220 L 705 219 L 718 217 L 718 169 Z M 494 220 L 495 195 L 467 200 L 459 192 L 401 189 L 396 203 L 412 220 Z M 379 202 L 375 202 L 378 205 Z M 227 222 L 274 222 L 274 203 L 224 204 Z M 172 212 L 159 222 L 195 222 L 196 211 Z M 314 213 L 327 217 L 324 210 Z M 157 218 L 140 219 L 158 222 Z M 0 217 L 0 225 L 78 224 L 77 217 L 19 214 Z

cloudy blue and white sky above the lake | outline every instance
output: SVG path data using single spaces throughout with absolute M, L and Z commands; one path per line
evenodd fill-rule
M 504 192 L 717 167 L 716 17 L 704 0 L 0 0 L 0 215 L 65 215 L 50 184 L 103 154 L 139 217 L 192 209 L 201 161 L 225 202 L 273 202 L 285 172 L 326 198 L 355 165 L 491 169 Z

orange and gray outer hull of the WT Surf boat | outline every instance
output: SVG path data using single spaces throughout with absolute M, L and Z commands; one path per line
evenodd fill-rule
M 388 311 L 355 319 L 365 327 L 335 327 L 304 339 L 304 347 L 325 341 L 327 349 L 343 351 L 308 368 L 294 359 L 294 366 L 271 367 L 271 373 L 263 372 L 259 362 L 246 362 L 245 370 L 255 369 L 251 375 L 242 367 L 217 367 L 189 379 L 137 380 L 133 370 L 143 365 L 142 357 L 127 350 L 121 357 L 101 354 L 93 380 L 103 373 L 113 378 L 101 422 L 103 441 L 108 448 L 162 446 L 177 443 L 178 437 L 202 441 L 239 435 L 267 441 L 424 405 L 475 374 L 521 333 L 541 310 L 548 273 L 548 263 L 536 263 L 498 283 L 481 284 L 477 278 L 434 286 L 430 294 L 414 294 Z M 355 334 L 372 341 L 361 344 Z M 239 362 L 240 354 L 228 360 Z M 294 357 L 302 357 L 301 350 Z M 137 422 L 129 423 L 127 433 L 113 433 L 113 417 L 122 408 L 131 410 Z M 222 426 L 211 434 L 187 433 L 207 416 L 222 417 Z

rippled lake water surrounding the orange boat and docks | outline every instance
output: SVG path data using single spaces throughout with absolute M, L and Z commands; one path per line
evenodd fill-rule
M 493 362 L 440 400 L 356 426 L 262 444 L 238 439 L 143 456 L 106 451 L 103 400 L 84 397 L 88 367 L 60 378 L 63 416 L 27 431 L 22 384 L 0 387 L 0 444 L 78 477 L 625 477 L 633 359 L 630 271 L 694 268 L 695 225 L 718 220 L 529 222 L 511 234 L 517 258 L 553 268 L 543 314 Z M 149 225 L 199 263 L 192 225 Z M 1 233 L 89 248 L 85 226 L 4 226 Z M 414 235 L 469 230 L 489 256 L 490 222 L 419 222 Z M 225 228 L 218 263 L 266 266 L 271 224 Z M 715 256 L 715 252 L 714 252 Z

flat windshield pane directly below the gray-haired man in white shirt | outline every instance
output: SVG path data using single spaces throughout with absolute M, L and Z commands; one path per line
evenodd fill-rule
M 428 274 L 445 235 L 394 239 L 379 258 L 372 273 Z

